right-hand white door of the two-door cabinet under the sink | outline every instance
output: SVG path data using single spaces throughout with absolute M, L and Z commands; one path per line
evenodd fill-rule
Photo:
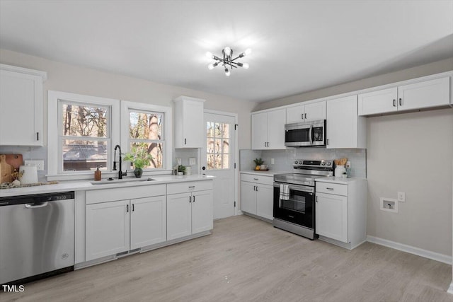
M 165 196 L 131 199 L 130 249 L 166 240 Z

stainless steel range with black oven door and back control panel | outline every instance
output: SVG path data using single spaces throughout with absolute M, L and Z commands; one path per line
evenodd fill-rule
M 294 161 L 293 173 L 274 175 L 273 225 L 313 240 L 315 238 L 315 179 L 333 175 L 333 161 Z M 289 187 L 287 197 L 280 189 Z

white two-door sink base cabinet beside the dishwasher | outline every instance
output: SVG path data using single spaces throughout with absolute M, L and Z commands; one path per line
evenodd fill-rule
M 86 192 L 85 260 L 166 241 L 166 185 Z

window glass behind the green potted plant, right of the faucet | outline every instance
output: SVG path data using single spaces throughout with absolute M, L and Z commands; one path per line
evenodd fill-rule
M 129 111 L 129 148 L 132 153 L 146 150 L 152 156 L 151 164 L 144 168 L 164 167 L 164 113 Z

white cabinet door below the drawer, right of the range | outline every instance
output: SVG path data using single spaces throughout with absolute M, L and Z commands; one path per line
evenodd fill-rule
M 348 197 L 316 193 L 316 233 L 348 243 Z

